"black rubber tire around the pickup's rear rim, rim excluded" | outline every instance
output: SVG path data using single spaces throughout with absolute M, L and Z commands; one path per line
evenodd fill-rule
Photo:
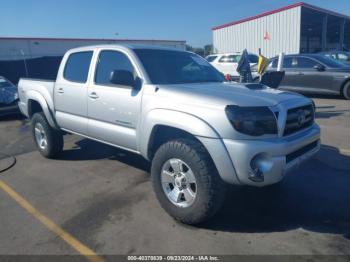
M 55 158 L 57 157 L 63 150 L 63 135 L 59 130 L 52 128 L 46 120 L 45 115 L 41 113 L 35 113 L 32 117 L 32 135 L 35 141 L 35 144 L 42 156 L 45 158 Z M 36 136 L 35 136 L 35 127 L 36 124 L 41 124 L 45 136 L 47 145 L 43 149 L 39 146 Z

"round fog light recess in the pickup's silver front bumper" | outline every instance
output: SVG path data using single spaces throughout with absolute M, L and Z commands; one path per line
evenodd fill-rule
M 264 182 L 264 174 L 269 172 L 272 166 L 272 159 L 267 153 L 257 154 L 250 161 L 249 179 L 254 182 Z

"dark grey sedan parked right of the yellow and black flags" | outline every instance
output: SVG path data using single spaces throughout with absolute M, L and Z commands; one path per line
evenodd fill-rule
M 278 57 L 272 58 L 267 71 L 277 69 Z M 284 79 L 279 88 L 315 94 L 336 94 L 350 99 L 350 66 L 320 54 L 286 55 Z M 257 79 L 257 67 L 252 66 Z

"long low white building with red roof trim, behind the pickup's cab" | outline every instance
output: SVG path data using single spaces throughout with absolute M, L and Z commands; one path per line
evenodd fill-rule
M 120 43 L 161 45 L 183 50 L 186 48 L 186 41 L 174 40 L 0 37 L 0 61 L 63 56 L 68 49 L 75 47 Z

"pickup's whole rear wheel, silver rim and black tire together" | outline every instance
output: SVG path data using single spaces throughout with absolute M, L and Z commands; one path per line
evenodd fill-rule
M 35 113 L 32 117 L 32 135 L 41 155 L 55 158 L 63 150 L 63 135 L 53 129 L 43 113 Z

